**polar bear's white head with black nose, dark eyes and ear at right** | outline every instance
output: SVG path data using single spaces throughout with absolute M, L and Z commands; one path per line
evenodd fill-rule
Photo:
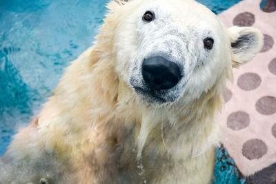
M 117 72 L 148 103 L 199 98 L 262 47 L 258 30 L 227 29 L 193 0 L 132 0 L 117 11 Z

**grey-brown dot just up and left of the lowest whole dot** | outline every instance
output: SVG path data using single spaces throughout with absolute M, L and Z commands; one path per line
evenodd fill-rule
M 227 118 L 227 127 L 232 130 L 241 130 L 250 123 L 249 114 L 243 111 L 231 113 Z

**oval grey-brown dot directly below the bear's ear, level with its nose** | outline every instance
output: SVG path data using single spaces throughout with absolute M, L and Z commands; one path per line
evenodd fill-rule
M 258 74 L 255 73 L 245 73 L 239 76 L 237 79 L 237 85 L 242 90 L 250 91 L 255 90 L 261 85 L 262 79 Z

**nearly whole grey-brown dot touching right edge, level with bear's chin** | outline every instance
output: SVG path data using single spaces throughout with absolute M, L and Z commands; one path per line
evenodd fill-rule
M 255 108 L 260 114 L 274 114 L 276 112 L 276 98 L 273 96 L 264 96 L 257 101 Z

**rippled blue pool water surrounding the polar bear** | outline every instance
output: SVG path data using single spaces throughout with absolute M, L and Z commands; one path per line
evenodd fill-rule
M 241 0 L 197 1 L 217 14 Z M 0 156 L 52 95 L 63 69 L 92 44 L 106 3 L 0 0 Z M 215 183 L 243 183 L 235 170 L 217 148 Z

